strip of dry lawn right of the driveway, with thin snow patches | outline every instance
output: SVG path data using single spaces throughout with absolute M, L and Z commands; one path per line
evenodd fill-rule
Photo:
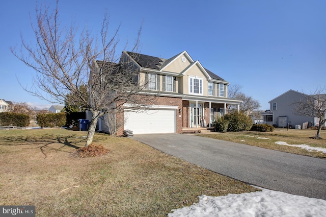
M 249 144 L 265 149 L 273 149 L 282 152 L 293 154 L 306 155 L 311 157 L 326 158 L 326 154 L 315 151 L 307 151 L 298 147 L 283 146 L 276 144 L 277 141 L 284 141 L 288 144 L 308 144 L 312 147 L 326 148 L 325 139 L 312 139 L 310 137 L 316 134 L 316 130 L 295 130 L 295 129 L 275 129 L 273 132 L 226 132 L 226 133 L 212 133 L 202 134 L 200 136 L 232 141 L 237 143 Z M 249 137 L 254 136 L 254 137 Z M 259 139 L 257 137 L 268 138 Z M 326 131 L 321 131 L 321 137 L 326 138 Z

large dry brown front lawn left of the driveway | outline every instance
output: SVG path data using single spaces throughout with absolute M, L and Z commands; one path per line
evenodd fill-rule
M 96 134 L 94 143 L 109 153 L 72 157 L 83 136 L 61 129 L 0 131 L 0 205 L 35 205 L 37 216 L 166 216 L 203 194 L 257 190 L 130 138 Z

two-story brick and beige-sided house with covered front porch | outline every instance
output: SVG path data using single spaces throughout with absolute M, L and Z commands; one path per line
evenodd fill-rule
M 138 68 L 139 83 L 148 82 L 147 89 L 157 91 L 156 105 L 144 112 L 124 112 L 122 135 L 128 129 L 141 133 L 182 133 L 188 128 L 209 127 L 228 105 L 239 108 L 241 101 L 228 99 L 229 82 L 204 68 L 186 52 L 170 59 L 122 52 L 121 61 L 132 60 Z M 126 105 L 127 106 L 127 105 Z M 106 131 L 103 118 L 97 130 Z M 110 131 L 110 130 L 108 130 Z

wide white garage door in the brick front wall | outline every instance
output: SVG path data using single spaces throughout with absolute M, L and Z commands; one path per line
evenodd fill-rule
M 125 112 L 125 130 L 134 134 L 175 133 L 175 109 L 149 109 L 143 112 Z

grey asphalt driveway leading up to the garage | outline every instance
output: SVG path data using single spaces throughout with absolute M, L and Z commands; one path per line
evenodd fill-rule
M 189 134 L 139 134 L 133 139 L 242 182 L 326 200 L 324 159 Z

